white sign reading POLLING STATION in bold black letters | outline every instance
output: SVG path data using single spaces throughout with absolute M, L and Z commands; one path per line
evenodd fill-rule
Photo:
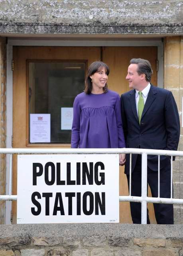
M 17 223 L 119 222 L 117 154 L 18 155 Z

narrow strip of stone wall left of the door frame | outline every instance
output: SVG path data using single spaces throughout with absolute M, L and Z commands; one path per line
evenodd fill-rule
M 0 148 L 6 148 L 6 38 L 0 38 Z M 6 191 L 6 155 L 0 155 L 0 195 Z M 0 201 L 0 224 L 4 223 L 5 201 Z

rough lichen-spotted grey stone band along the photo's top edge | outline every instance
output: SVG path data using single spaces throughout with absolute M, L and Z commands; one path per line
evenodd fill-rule
M 130 10 L 130 11 L 129 11 Z M 2 22 L 65 24 L 182 23 L 180 0 L 1 0 Z

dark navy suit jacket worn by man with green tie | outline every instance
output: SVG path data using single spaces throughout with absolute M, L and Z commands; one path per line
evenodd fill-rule
M 179 113 L 175 99 L 170 91 L 151 84 L 150 91 L 139 124 L 136 90 L 121 95 L 121 112 L 126 148 L 149 148 L 177 150 L 180 136 Z M 132 172 L 137 155 L 132 155 Z M 168 156 L 160 157 L 160 168 L 169 161 Z M 157 171 L 157 156 L 148 155 L 148 167 Z M 125 173 L 129 174 L 130 157 L 126 156 Z

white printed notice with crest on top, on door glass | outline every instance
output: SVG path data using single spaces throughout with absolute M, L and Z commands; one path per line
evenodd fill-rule
M 50 142 L 50 114 L 30 114 L 30 143 Z

